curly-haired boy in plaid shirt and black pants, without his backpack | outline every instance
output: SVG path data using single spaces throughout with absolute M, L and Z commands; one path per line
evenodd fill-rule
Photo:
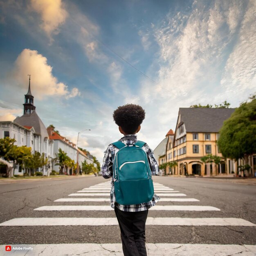
M 113 114 L 115 123 L 119 126 L 119 131 L 124 135 L 119 141 L 126 145 L 137 142 L 137 132 L 141 128 L 141 123 L 145 118 L 145 111 L 141 106 L 126 104 L 119 106 Z M 153 175 L 157 175 L 159 167 L 154 157 L 153 151 L 145 143 L 142 149 L 146 152 L 148 163 Z M 121 240 L 125 256 L 146 256 L 145 246 L 145 224 L 148 216 L 148 209 L 159 201 L 159 197 L 154 194 L 152 200 L 142 204 L 121 205 L 115 202 L 115 190 L 113 179 L 113 162 L 118 148 L 110 144 L 105 151 L 103 165 L 101 167 L 102 176 L 105 179 L 111 177 L 111 207 L 115 209 L 115 214 L 121 231 Z

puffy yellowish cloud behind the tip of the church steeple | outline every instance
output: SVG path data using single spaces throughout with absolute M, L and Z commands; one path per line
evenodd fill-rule
M 31 74 L 31 92 L 38 99 L 45 96 L 64 96 L 69 99 L 80 95 L 77 88 L 69 92 L 67 85 L 58 82 L 52 74 L 52 67 L 47 64 L 47 58 L 35 50 L 24 49 L 15 61 L 13 76 L 23 88 L 28 85 L 27 74 Z

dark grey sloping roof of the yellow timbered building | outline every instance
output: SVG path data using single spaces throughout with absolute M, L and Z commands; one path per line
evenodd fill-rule
M 219 132 L 234 111 L 235 108 L 180 108 L 180 123 L 185 124 L 187 132 Z

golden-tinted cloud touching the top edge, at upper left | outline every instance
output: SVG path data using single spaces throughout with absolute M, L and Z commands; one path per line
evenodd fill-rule
M 49 37 L 58 34 L 59 26 L 68 16 L 61 0 L 31 0 L 31 9 L 40 14 L 42 19 L 40 27 Z

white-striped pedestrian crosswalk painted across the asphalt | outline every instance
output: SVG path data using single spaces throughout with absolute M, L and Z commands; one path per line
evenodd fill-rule
M 256 224 L 241 218 L 219 218 L 214 213 L 221 212 L 221 209 L 211 205 L 198 205 L 200 200 L 189 198 L 186 194 L 175 189 L 154 182 L 154 190 L 161 200 L 154 207 L 149 209 L 146 227 L 256 227 Z M 88 226 L 88 227 L 109 227 L 117 226 L 117 219 L 113 217 L 113 209 L 110 207 L 110 182 L 102 182 L 88 188 L 83 188 L 76 193 L 71 193 L 67 198 L 54 200 L 57 205 L 44 205 L 34 209 L 34 212 L 43 212 L 47 217 L 37 218 L 14 218 L 0 223 L 2 227 L 43 227 L 43 226 Z M 172 205 L 168 203 L 172 202 Z M 177 203 L 176 203 L 177 202 Z M 61 205 L 60 205 L 61 203 Z M 184 204 L 184 205 L 182 205 Z M 54 212 L 74 213 L 72 217 L 51 217 Z M 84 212 L 105 212 L 102 217 L 74 217 L 76 211 Z M 164 217 L 153 214 L 155 211 L 166 213 Z M 212 212 L 210 218 L 188 218 L 169 217 L 172 211 L 183 213 L 189 212 Z M 111 214 L 110 214 L 111 213 Z M 70 215 L 69 215 L 70 216 Z M 163 216 L 163 214 L 162 214 Z M 119 241 L 116 241 L 119 242 Z M 23 246 L 23 245 L 20 245 Z M 85 244 L 43 244 L 29 245 L 33 250 L 12 250 L 12 255 L 78 255 L 86 252 L 86 255 L 122 255 L 121 243 L 85 243 Z M 214 245 L 214 244 L 170 244 L 170 243 L 147 243 L 148 255 L 256 255 L 256 245 Z M 2 245 L 0 245 L 0 251 Z M 19 247 L 19 245 L 16 245 Z M 36 252 L 38 252 L 36 254 Z M 187 254 L 186 254 L 187 252 Z M 241 253 L 243 252 L 243 254 Z M 9 255 L 9 252 L 4 252 Z M 179 254 L 181 253 L 181 254 Z

